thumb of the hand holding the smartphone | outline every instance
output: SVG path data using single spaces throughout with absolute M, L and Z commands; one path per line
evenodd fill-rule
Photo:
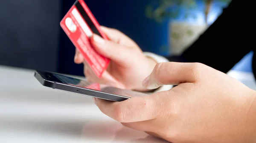
M 143 81 L 147 89 L 156 89 L 162 85 L 177 85 L 181 83 L 194 83 L 199 79 L 200 68 L 198 63 L 159 63 L 152 73 Z

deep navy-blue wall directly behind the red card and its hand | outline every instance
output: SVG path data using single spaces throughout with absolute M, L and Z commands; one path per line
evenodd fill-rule
M 73 2 L 73 0 L 63 2 L 62 14 L 66 14 Z M 161 49 L 162 45 L 168 45 L 168 22 L 160 24 L 145 17 L 145 6 L 151 0 L 86 0 L 85 2 L 101 25 L 122 31 L 137 42 L 144 51 L 162 55 L 168 53 L 167 49 L 166 51 Z M 82 65 L 73 63 L 74 49 L 64 32 L 61 32 L 59 72 L 83 74 Z

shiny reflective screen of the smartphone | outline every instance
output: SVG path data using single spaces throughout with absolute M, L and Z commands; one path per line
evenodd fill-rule
M 148 95 L 146 93 L 140 93 L 132 90 L 123 90 L 123 89 L 109 87 L 109 86 L 98 84 L 98 83 L 90 83 L 85 80 L 75 79 L 75 78 L 64 76 L 57 73 L 50 73 L 50 72 L 38 72 L 38 73 L 48 81 L 54 81 L 61 84 L 67 84 L 67 85 L 72 85 L 72 86 L 81 87 L 85 89 L 96 90 L 96 91 L 109 93 L 113 95 L 124 96 L 129 98 L 132 98 L 135 96 Z

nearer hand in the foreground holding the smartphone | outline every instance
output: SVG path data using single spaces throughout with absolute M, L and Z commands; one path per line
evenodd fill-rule
M 122 102 L 95 99 L 99 109 L 132 129 L 172 143 L 255 143 L 256 92 L 199 63 L 157 64 L 143 82 L 169 91 Z

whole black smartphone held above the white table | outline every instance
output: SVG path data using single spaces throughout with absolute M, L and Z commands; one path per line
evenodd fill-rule
M 102 98 L 110 101 L 125 101 L 126 99 L 135 96 L 147 95 L 145 93 L 139 93 L 131 90 L 108 87 L 98 83 L 90 83 L 88 81 L 75 79 L 58 73 L 35 71 L 34 76 L 42 85 L 46 87 Z

